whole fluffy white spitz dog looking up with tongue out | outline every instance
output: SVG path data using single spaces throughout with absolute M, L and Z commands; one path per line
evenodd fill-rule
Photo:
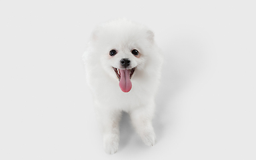
M 105 152 L 118 149 L 122 111 L 129 113 L 142 141 L 153 146 L 151 119 L 162 63 L 153 32 L 125 19 L 104 23 L 93 31 L 83 61 Z

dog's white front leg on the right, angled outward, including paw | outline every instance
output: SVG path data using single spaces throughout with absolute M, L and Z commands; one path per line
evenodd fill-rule
M 155 145 L 155 132 L 152 126 L 154 105 L 149 104 L 130 112 L 131 121 L 145 145 Z

